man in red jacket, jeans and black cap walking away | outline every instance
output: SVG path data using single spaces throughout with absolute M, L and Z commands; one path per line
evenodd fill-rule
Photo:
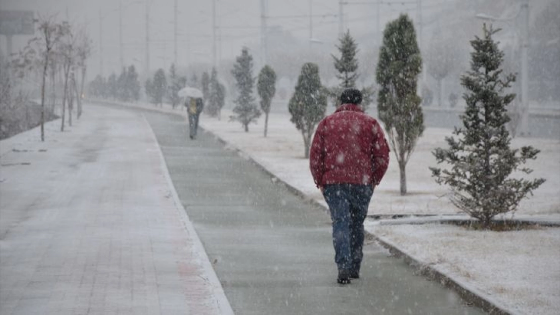
M 362 93 L 349 88 L 340 106 L 315 131 L 309 164 L 333 221 L 339 284 L 360 278 L 363 222 L 375 186 L 389 166 L 389 147 L 377 120 L 360 106 Z

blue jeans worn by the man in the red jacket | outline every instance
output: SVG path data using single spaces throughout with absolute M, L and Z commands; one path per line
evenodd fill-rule
M 360 271 L 363 257 L 363 221 L 374 187 L 371 185 L 325 185 L 323 196 L 333 220 L 334 261 L 338 269 Z

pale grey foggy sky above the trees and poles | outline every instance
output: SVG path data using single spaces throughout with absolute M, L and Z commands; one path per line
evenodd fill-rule
M 324 77 L 332 77 L 330 54 L 337 52 L 335 45 L 338 44 L 340 27 L 337 0 L 216 0 L 216 58 L 218 66 L 225 68 L 222 72 L 227 72 L 227 67 L 235 56 L 239 55 L 241 46 L 244 45 L 250 48 L 256 68 L 260 68 L 260 63 L 263 62 L 260 48 L 261 2 L 268 6 L 268 13 L 265 14 L 268 26 L 267 61 L 278 63 L 274 58 L 279 53 L 288 55 L 291 59 L 301 58 L 302 62 L 293 66 L 293 73 L 290 74 L 293 77 L 297 76 L 298 65 L 313 60 L 320 64 Z M 531 1 L 531 18 L 540 13 L 549 2 L 550 0 Z M 119 15 L 119 3 L 122 3 L 122 15 Z M 206 64 L 207 67 L 211 65 L 214 43 L 212 3 L 213 1 L 177 1 L 176 61 L 179 67 L 192 64 Z M 511 12 L 515 13 L 519 8 L 517 0 L 422 0 L 419 1 L 420 14 L 416 1 L 388 1 L 379 6 L 376 2 L 359 3 L 345 4 L 342 8 L 344 30 L 351 32 L 360 48 L 360 63 L 362 72 L 365 72 L 362 79 L 365 81 L 372 80 L 371 74 L 375 68 L 382 29 L 400 13 L 408 13 L 415 23 L 422 20 L 422 31 L 419 31 L 417 24 L 417 32 L 423 51 L 432 44 L 433 36 L 452 37 L 456 46 L 468 51 L 468 41 L 474 34 L 480 34 L 480 26 L 483 23 L 475 18 L 477 13 L 501 17 L 511 15 Z M 86 27 L 94 42 L 94 54 L 88 67 L 90 79 L 99 73 L 109 76 L 111 72 L 120 72 L 121 47 L 124 65 L 134 64 L 142 73 L 146 65 L 146 7 L 149 8 L 150 70 L 153 72 L 157 68 L 168 69 L 175 59 L 174 6 L 174 0 L 1 2 L 1 10 L 32 10 L 36 12 L 36 16 L 56 14 L 60 19 L 67 19 L 74 25 Z M 510 27 L 510 30 L 504 32 L 505 35 L 512 32 L 511 24 L 515 25 L 515 22 L 499 25 Z M 119 40 L 121 25 L 122 46 Z M 27 40 L 28 36 L 15 36 L 13 50 L 17 51 Z M 4 36 L 1 43 L 5 53 Z M 466 64 L 465 60 L 463 64 Z

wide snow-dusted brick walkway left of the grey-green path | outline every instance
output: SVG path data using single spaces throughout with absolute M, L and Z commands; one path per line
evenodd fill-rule
M 0 142 L 0 314 L 231 314 L 142 114 Z

